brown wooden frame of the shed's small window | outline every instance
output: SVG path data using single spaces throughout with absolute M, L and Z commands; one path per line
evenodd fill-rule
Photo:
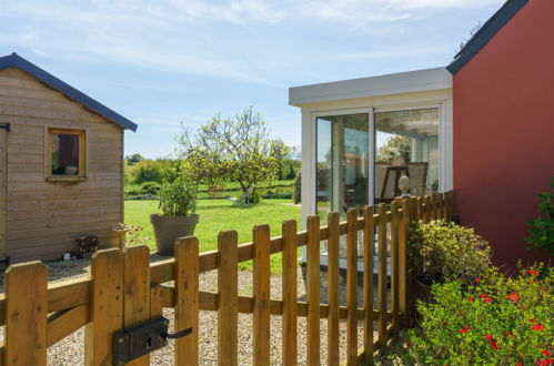
M 80 182 L 87 180 L 87 130 L 70 128 L 46 126 L 46 163 L 44 177 L 49 182 Z M 57 175 L 52 174 L 52 135 L 54 133 L 72 134 L 79 136 L 79 174 Z

